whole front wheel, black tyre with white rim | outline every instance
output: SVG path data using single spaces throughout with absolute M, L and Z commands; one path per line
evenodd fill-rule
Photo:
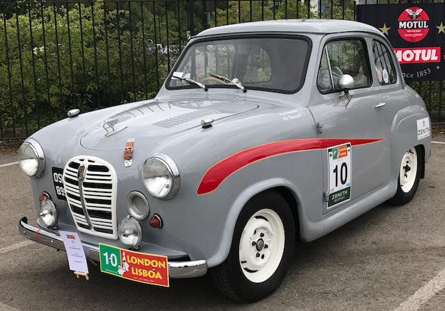
M 259 194 L 241 211 L 227 259 L 212 269 L 225 296 L 257 301 L 282 283 L 295 246 L 293 214 L 276 192 Z

